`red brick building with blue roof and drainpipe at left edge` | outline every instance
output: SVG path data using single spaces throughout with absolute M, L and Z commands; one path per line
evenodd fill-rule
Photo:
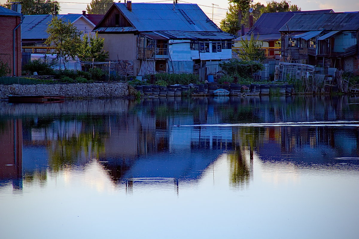
M 22 14 L 0 6 L 0 61 L 8 64 L 10 76 L 21 75 L 21 27 L 19 26 L 21 17 Z M 14 44 L 13 33 L 16 27 L 18 28 L 15 30 Z

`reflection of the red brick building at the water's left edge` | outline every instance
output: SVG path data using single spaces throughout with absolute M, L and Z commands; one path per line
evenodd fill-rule
M 22 190 L 22 122 L 0 122 L 0 185 L 9 182 L 13 190 Z

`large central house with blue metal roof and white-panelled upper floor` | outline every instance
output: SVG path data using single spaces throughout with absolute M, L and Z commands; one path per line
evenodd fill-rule
M 231 59 L 235 38 L 197 4 L 115 3 L 94 31 L 120 75 L 199 72 Z

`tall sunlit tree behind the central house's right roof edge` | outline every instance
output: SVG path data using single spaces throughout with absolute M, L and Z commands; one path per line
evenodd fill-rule
M 229 7 L 226 13 L 226 16 L 220 22 L 220 28 L 233 35 L 237 35 L 238 30 L 241 29 L 241 24 L 245 26 L 249 26 L 249 9 L 253 8 L 253 23 L 260 16 L 260 9 L 264 7 L 264 5 L 260 3 L 251 4 L 251 0 L 229 0 Z M 238 24 L 238 12 L 242 11 L 242 20 L 241 24 Z

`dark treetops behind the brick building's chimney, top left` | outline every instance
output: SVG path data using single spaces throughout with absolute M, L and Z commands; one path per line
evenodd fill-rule
M 2 6 L 11 9 L 11 0 L 7 0 Z M 60 4 L 50 0 L 23 0 L 21 1 L 21 13 L 24 15 L 37 15 L 37 14 L 59 14 Z

